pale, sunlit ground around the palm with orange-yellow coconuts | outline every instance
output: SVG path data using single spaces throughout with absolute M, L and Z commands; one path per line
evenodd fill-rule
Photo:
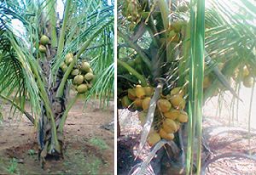
M 203 109 L 203 137 L 211 151 L 208 160 L 212 160 L 218 155 L 227 154 L 225 158 L 212 162 L 207 167 L 205 174 L 256 175 L 256 161 L 242 157 L 242 155 L 251 154 L 256 160 L 256 110 L 253 107 L 251 119 L 249 119 L 250 90 L 250 88 L 241 88 L 239 108 L 235 107 L 234 110 L 230 109 L 232 95 L 226 92 L 220 115 L 218 113 L 218 97 L 212 98 L 205 104 Z M 254 92 L 253 97 L 255 96 L 256 92 Z M 256 100 L 253 100 L 252 106 L 255 105 Z M 236 116 L 238 117 L 236 118 Z M 139 156 L 141 159 L 134 161 L 142 130 L 137 112 L 119 110 L 119 123 L 121 136 L 118 139 L 118 174 L 126 175 L 131 167 L 147 157 L 150 148 L 146 146 L 143 154 Z M 250 127 L 250 134 L 248 127 Z M 236 156 L 230 156 L 232 154 Z M 172 174 L 175 174 L 173 169 Z

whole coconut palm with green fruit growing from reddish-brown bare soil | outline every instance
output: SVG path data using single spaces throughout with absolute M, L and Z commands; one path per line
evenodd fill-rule
M 0 97 L 38 128 L 43 166 L 62 155 L 75 101 L 113 94 L 113 2 L 2 1 L 0 33 Z

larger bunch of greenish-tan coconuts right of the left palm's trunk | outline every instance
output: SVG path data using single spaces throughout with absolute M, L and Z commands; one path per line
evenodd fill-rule
M 68 53 L 65 56 L 65 61 L 61 64 L 61 70 L 63 72 L 67 71 L 68 65 L 73 61 L 73 54 Z M 94 74 L 90 68 L 90 64 L 86 61 L 80 62 L 78 65 L 73 67 L 69 78 L 73 79 L 73 87 L 78 93 L 86 93 L 89 88 L 91 88 L 91 82 L 94 79 Z

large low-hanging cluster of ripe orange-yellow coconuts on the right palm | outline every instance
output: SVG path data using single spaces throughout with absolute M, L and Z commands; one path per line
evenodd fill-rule
M 124 108 L 140 111 L 138 117 L 144 125 L 153 93 L 154 88 L 137 85 L 136 88 L 128 89 L 127 95 L 121 99 L 121 104 Z M 172 88 L 170 94 L 160 95 L 154 112 L 154 127 L 148 134 L 150 146 L 154 146 L 161 138 L 172 140 L 180 124 L 188 121 L 188 114 L 184 111 L 186 101 L 183 96 L 183 88 Z

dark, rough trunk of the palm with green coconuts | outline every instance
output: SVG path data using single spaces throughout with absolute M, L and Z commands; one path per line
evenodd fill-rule
M 48 49 L 49 53 L 46 53 L 47 59 L 55 57 L 55 49 Z M 44 75 L 43 81 L 45 85 L 45 90 L 48 93 L 49 103 L 51 106 L 51 111 L 54 115 L 56 130 L 58 131 L 59 125 L 61 123 L 61 117 L 63 116 L 64 111 L 66 110 L 67 102 L 67 84 L 64 87 L 64 93 L 62 97 L 56 97 L 57 90 L 60 86 L 61 80 L 63 78 L 64 72 L 59 68 L 56 74 L 56 80 L 51 79 L 51 64 L 50 61 L 44 60 L 41 61 L 42 73 Z M 62 157 L 62 145 L 63 145 L 63 133 L 57 132 L 55 138 L 57 138 L 61 150 L 52 150 L 52 145 L 54 145 L 55 140 L 53 139 L 53 128 L 51 125 L 50 117 L 47 114 L 45 109 L 45 104 L 41 102 L 42 114 L 38 120 L 38 159 L 40 161 L 41 167 L 44 167 L 45 159 L 48 157 L 54 157 L 59 159 Z

